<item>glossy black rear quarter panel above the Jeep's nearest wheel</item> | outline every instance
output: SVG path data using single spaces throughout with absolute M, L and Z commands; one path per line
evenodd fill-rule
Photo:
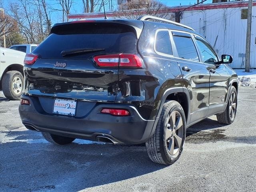
M 147 22 L 138 40 L 137 50 L 145 68 L 138 70 L 119 69 L 118 103 L 136 106 L 142 117 L 156 119 L 162 96 L 170 87 L 182 87 L 182 74 L 178 63 L 170 57 L 160 56 L 154 51 L 155 32 L 163 24 Z M 130 92 L 122 92 L 122 90 Z

